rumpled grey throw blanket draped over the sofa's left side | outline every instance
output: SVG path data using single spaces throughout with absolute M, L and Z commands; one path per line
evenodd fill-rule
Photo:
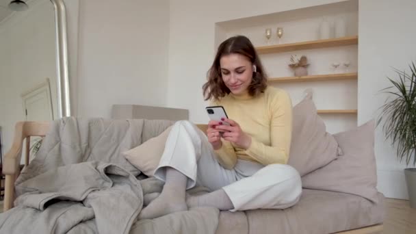
M 137 220 L 144 194 L 163 183 L 136 177 L 140 171 L 121 153 L 172 123 L 56 120 L 16 181 L 15 207 L 0 214 L 0 233 L 215 233 L 215 208 Z

